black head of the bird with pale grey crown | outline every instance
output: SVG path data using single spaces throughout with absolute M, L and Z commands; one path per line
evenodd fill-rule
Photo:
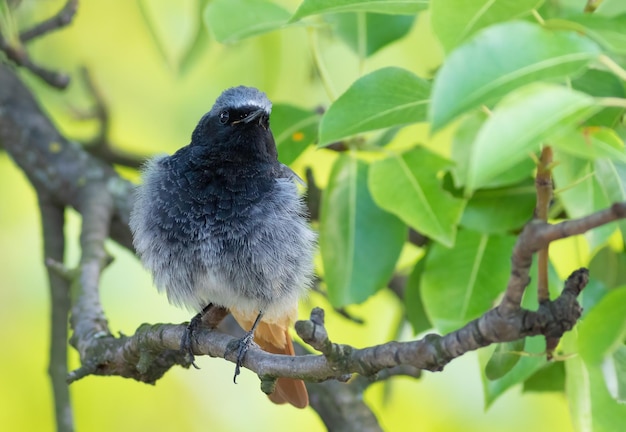
M 253 87 L 232 87 L 193 131 L 191 144 L 206 146 L 229 159 L 276 160 L 276 144 L 269 126 L 272 103 Z

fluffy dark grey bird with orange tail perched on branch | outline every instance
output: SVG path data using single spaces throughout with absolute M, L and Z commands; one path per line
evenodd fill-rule
M 271 109 L 254 87 L 224 90 L 187 146 L 145 164 L 130 215 L 136 252 L 170 303 L 198 312 L 196 321 L 207 308 L 227 309 L 247 331 L 235 379 L 252 339 L 294 355 L 288 329 L 314 272 L 302 180 L 278 160 Z M 297 379 L 278 378 L 268 396 L 308 405 Z

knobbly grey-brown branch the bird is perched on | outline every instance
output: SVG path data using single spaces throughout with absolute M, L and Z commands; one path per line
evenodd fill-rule
M 262 379 L 284 376 L 309 382 L 329 379 L 345 381 L 346 375 L 353 373 L 374 376 L 399 365 L 439 371 L 452 359 L 492 343 L 535 335 L 560 337 L 580 317 L 581 308 L 576 302 L 576 296 L 587 280 L 587 270 L 577 270 L 566 282 L 561 296 L 541 305 L 536 312 L 520 309 L 515 314 L 504 316 L 496 308 L 445 336 L 431 334 L 417 341 L 389 342 L 363 349 L 331 342 L 324 327 L 323 311 L 316 308 L 310 320 L 296 323 L 296 330 L 305 342 L 321 351 L 322 355 L 291 357 L 269 354 L 252 347 L 243 365 Z M 179 351 L 185 329 L 184 324 L 145 324 L 132 337 L 106 336 L 101 340 L 93 340 L 94 347 L 98 347 L 101 355 L 92 357 L 94 363 L 91 373 L 154 382 L 174 364 L 189 365 Z M 197 338 L 194 354 L 225 357 L 235 362 L 236 354 L 232 351 L 225 356 L 234 337 L 217 330 L 199 329 Z M 72 379 L 78 379 L 81 375 Z

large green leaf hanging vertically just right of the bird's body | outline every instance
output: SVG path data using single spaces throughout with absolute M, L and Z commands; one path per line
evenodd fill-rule
M 319 243 L 335 307 L 363 302 L 384 287 L 406 239 L 406 225 L 372 200 L 368 168 L 342 154 L 322 196 Z

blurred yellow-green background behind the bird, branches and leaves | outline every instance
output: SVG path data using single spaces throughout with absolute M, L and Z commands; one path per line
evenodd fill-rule
M 47 17 L 62 1 L 23 1 L 20 25 Z M 297 1 L 276 2 L 290 11 Z M 229 86 L 244 84 L 265 91 L 275 103 L 302 107 L 327 106 L 329 95 L 313 61 L 311 43 L 318 46 L 335 96 L 360 74 L 385 65 L 402 66 L 428 77 L 441 61 L 429 34 L 427 14 L 420 14 L 407 37 L 363 63 L 340 40 L 319 29 L 290 28 L 242 42 L 223 45 L 206 31 L 197 11 L 199 1 L 85 0 L 73 24 L 31 45 L 41 64 L 73 76 L 67 91 L 46 87 L 22 76 L 63 133 L 77 139 L 91 136 L 93 120 L 79 120 L 93 104 L 79 69 L 86 67 L 102 92 L 111 116 L 110 139 L 118 148 L 139 155 L 171 153 L 186 145 L 197 120 Z M 427 41 L 428 43 L 424 43 Z M 194 52 L 189 54 L 190 47 Z M 181 65 L 185 65 L 182 67 Z M 428 143 L 426 132 L 412 127 Z M 402 139 L 400 136 L 398 139 Z M 432 144 L 432 143 L 431 143 Z M 443 143 L 441 145 L 446 145 Z M 432 144 L 435 147 L 435 144 Z M 324 183 L 328 150 L 310 149 L 296 161 L 302 172 L 314 165 Z M 325 174 L 326 173 L 326 174 Z M 130 170 L 123 174 L 136 180 Z M 0 154 L 0 430 L 53 430 L 51 389 L 47 379 L 49 304 L 42 259 L 36 196 L 25 176 L 6 154 Z M 78 261 L 80 218 L 68 211 L 67 264 Z M 105 271 L 102 302 L 113 332 L 132 334 L 144 322 L 182 322 L 187 311 L 168 305 L 157 294 L 136 258 L 108 244 L 114 263 Z M 330 308 L 317 294 L 301 305 L 301 316 L 314 306 Z M 327 313 L 331 337 L 361 347 L 388 340 L 412 339 L 398 329 L 402 307 L 381 291 L 365 304 L 350 308 L 365 319 L 357 325 Z M 72 351 L 71 367 L 77 367 Z M 244 371 L 232 384 L 233 365 L 199 358 L 201 370 L 171 370 L 155 386 L 118 377 L 87 377 L 71 386 L 76 425 L 82 431 L 180 430 L 324 430 L 311 409 L 295 410 L 271 404 L 259 390 L 259 380 Z M 425 373 L 420 380 L 395 378 L 371 386 L 365 395 L 385 430 L 426 431 L 569 431 L 562 393 L 508 392 L 486 412 L 475 353 L 453 361 L 442 373 Z

